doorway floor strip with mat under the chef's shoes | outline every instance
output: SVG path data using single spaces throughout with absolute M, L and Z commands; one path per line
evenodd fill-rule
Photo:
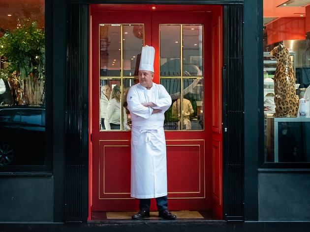
M 167 220 L 158 218 L 157 211 L 150 212 L 150 218 L 141 220 L 133 220 L 131 216 L 134 215 L 135 211 L 132 212 L 105 212 L 105 211 L 93 211 L 91 220 L 89 223 L 163 223 L 163 222 L 223 222 L 224 220 L 219 219 L 215 216 L 212 211 L 172 211 L 177 216 L 175 220 Z

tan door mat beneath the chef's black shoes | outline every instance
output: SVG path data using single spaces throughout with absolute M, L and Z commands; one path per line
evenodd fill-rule
M 171 211 L 179 219 L 203 219 L 204 217 L 197 211 Z M 107 212 L 107 219 L 131 219 L 137 212 Z M 158 212 L 150 212 L 150 218 L 158 218 Z

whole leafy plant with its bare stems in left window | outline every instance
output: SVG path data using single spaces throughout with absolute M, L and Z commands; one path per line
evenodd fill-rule
M 44 104 L 44 29 L 38 29 L 36 22 L 30 19 L 24 20 L 23 26 L 20 22 L 18 25 L 0 37 L 0 55 L 5 57 L 2 62 L 7 64 L 12 79 L 18 79 L 19 90 L 15 92 L 23 99 L 20 103 L 41 105 Z

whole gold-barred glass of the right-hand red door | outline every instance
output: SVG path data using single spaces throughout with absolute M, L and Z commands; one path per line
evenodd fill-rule
M 160 84 L 172 98 L 166 130 L 203 130 L 203 26 L 160 25 Z

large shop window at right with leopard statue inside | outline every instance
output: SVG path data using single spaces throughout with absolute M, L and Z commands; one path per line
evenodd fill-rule
M 307 4 L 288 1 L 279 5 L 276 0 L 264 0 L 265 162 L 310 162 L 310 16 L 306 15 L 310 5 Z M 277 58 L 280 56 L 285 58 Z

